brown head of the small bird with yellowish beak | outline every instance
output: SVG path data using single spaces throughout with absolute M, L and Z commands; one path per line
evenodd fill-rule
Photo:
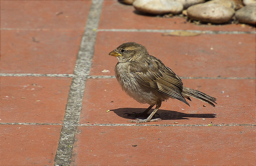
M 148 55 L 148 51 L 138 43 L 127 42 L 111 51 L 108 55 L 116 56 L 118 62 L 127 62 L 139 60 L 143 56 Z

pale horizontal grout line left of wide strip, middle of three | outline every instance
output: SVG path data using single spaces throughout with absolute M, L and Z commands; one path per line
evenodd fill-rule
M 34 76 L 34 77 L 74 77 L 74 74 L 29 74 L 29 73 L 0 73 L 0 76 Z

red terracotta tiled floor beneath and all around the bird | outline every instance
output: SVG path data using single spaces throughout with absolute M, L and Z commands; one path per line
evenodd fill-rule
M 256 29 L 140 15 L 117 1 L 104 1 L 102 9 L 95 10 L 100 2 L 0 2 L 0 165 L 255 165 Z M 93 18 L 97 13 L 100 18 Z M 98 28 L 87 24 L 91 29 L 85 29 L 86 21 L 98 19 Z M 230 34 L 106 32 L 111 29 Z M 84 31 L 96 35 L 89 79 L 74 72 Z M 86 35 L 84 45 L 93 44 Z M 144 45 L 178 76 L 194 77 L 182 79 L 184 86 L 218 97 L 216 107 L 194 98 L 190 107 L 169 99 L 155 115 L 163 121 L 127 122 L 136 117 L 124 113 L 142 112 L 148 105 L 127 96 L 115 78 L 104 78 L 115 75 L 117 63 L 108 53 L 127 41 Z M 88 59 L 83 57 L 77 70 L 84 71 L 90 63 L 90 49 L 93 52 L 93 48 L 81 49 Z M 32 76 L 15 76 L 22 73 Z M 83 85 L 84 80 L 85 88 L 80 87 L 84 96 L 79 96 L 75 82 Z M 70 96 L 82 101 L 77 104 L 81 112 L 74 110 L 73 117 L 67 116 L 74 106 Z M 79 124 L 67 122 L 68 118 L 78 119 Z M 62 149 L 61 142 L 71 143 Z M 67 162 L 60 164 L 60 155 Z

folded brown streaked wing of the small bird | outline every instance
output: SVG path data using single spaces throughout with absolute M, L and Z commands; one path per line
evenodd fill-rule
M 144 62 L 133 61 L 130 64 L 130 71 L 137 81 L 189 105 L 181 94 L 183 83 L 180 77 L 156 57 L 147 58 Z

